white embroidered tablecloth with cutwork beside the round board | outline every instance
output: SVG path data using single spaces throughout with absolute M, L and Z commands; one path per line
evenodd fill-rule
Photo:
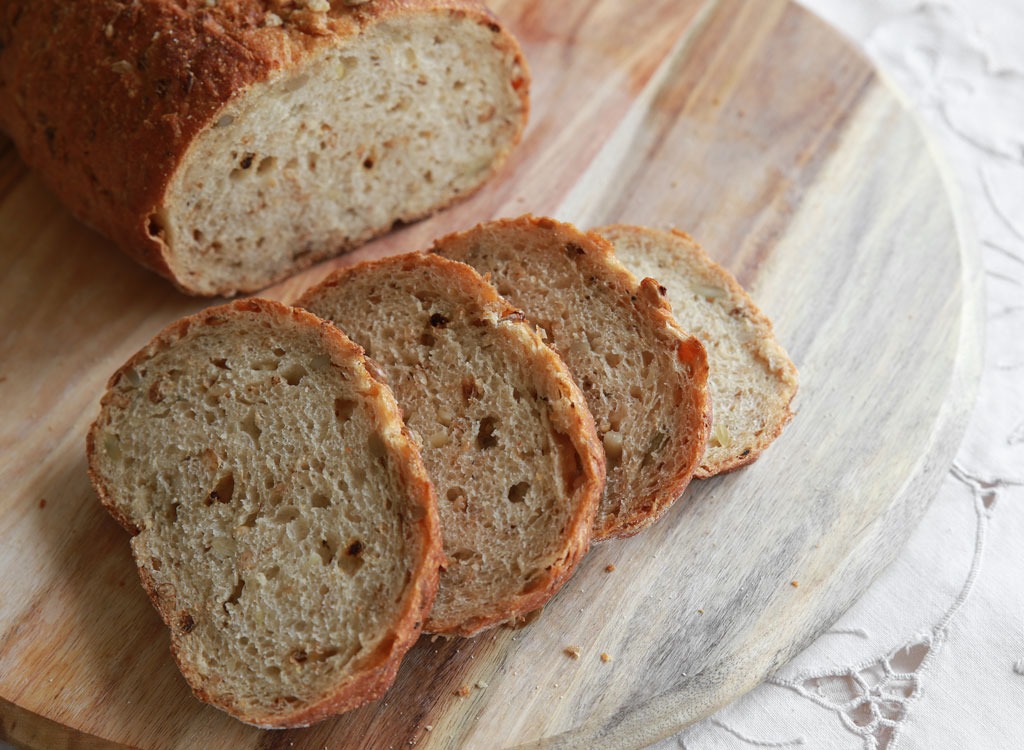
M 1024 2 L 801 0 L 907 95 L 985 269 L 955 464 L 896 561 L 768 682 L 656 750 L 1024 748 Z

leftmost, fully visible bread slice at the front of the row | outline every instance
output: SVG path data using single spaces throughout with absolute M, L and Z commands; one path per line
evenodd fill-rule
M 186 318 L 114 374 L 89 474 L 199 698 L 299 726 L 387 690 L 443 559 L 403 430 L 359 348 L 276 302 Z

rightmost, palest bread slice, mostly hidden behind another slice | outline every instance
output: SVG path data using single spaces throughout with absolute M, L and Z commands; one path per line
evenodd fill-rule
M 596 232 L 630 270 L 665 285 L 676 319 L 708 349 L 715 426 L 697 476 L 756 459 L 793 416 L 790 403 L 798 386 L 797 368 L 771 321 L 685 233 L 628 225 Z

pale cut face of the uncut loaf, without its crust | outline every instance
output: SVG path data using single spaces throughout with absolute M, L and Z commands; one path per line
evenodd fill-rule
M 477 189 L 519 139 L 527 83 L 496 24 L 384 17 L 229 101 L 150 233 L 184 290 L 261 289 Z

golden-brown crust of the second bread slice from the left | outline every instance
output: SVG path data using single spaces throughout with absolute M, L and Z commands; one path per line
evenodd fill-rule
M 494 312 L 497 319 L 502 321 L 502 329 L 516 337 L 524 351 L 535 358 L 538 365 L 554 373 L 559 389 L 571 405 L 561 416 L 570 425 L 567 435 L 580 457 L 581 471 L 585 477 L 570 500 L 574 512 L 566 526 L 562 555 L 547 571 L 546 578 L 536 584 L 534 590 L 517 594 L 492 611 L 468 620 L 442 621 L 431 613 L 424 627 L 426 632 L 430 633 L 472 636 L 502 623 L 522 618 L 543 607 L 568 580 L 590 548 L 593 520 L 604 488 L 604 449 L 598 440 L 594 418 L 587 409 L 583 393 L 561 358 L 541 339 L 532 326 L 525 322 L 520 310 L 510 305 L 490 284 L 465 263 L 424 253 L 409 253 L 367 261 L 335 272 L 319 285 L 306 291 L 296 304 L 310 305 L 325 290 L 343 285 L 346 279 L 357 274 L 392 267 L 398 273 L 422 265 L 441 267 L 452 288 L 459 290 L 460 296 L 478 300 L 478 311 L 481 314 Z

